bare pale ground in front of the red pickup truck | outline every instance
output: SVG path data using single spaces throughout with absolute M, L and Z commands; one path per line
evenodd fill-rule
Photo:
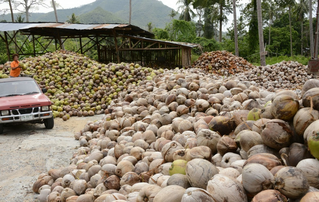
M 0 135 L 0 202 L 38 202 L 32 192 L 41 173 L 66 167 L 79 147 L 74 133 L 88 121 L 101 120 L 103 115 L 54 119 L 54 127 L 44 124 L 23 124 L 4 127 Z

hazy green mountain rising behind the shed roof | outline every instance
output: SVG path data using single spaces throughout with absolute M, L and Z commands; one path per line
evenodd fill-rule
M 41 8 L 40 8 L 41 9 Z M 41 11 L 41 10 L 38 11 Z M 171 21 L 168 14 L 172 8 L 159 0 L 132 0 L 131 24 L 147 29 L 152 22 L 154 27 L 164 28 Z M 81 23 L 129 23 L 129 0 L 96 0 L 92 3 L 69 9 L 57 9 L 58 19 L 65 22 L 75 13 Z M 16 18 L 17 13 L 14 14 Z M 25 17 L 22 15 L 22 17 Z M 174 17 L 175 19 L 178 16 Z M 1 20 L 10 21 L 10 14 L 0 16 Z M 54 12 L 32 12 L 30 22 L 54 22 Z

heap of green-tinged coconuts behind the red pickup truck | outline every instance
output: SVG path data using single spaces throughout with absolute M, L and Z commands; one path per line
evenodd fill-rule
M 127 91 L 141 80 L 151 80 L 161 71 L 134 63 L 103 64 L 66 50 L 27 57 L 20 62 L 21 73 L 46 88 L 54 118 L 64 121 L 72 116 L 103 114 L 119 92 Z M 10 62 L 0 65 L 0 78 L 7 78 L 9 69 Z

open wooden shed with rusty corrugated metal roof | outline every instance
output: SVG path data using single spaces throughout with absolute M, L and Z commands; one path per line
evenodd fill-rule
M 16 42 L 16 35 L 26 35 L 22 44 Z M 43 45 L 44 37 L 48 42 Z M 84 54 L 96 49 L 98 61 L 103 63 L 138 63 L 142 66 L 189 66 L 191 48 L 198 44 L 179 43 L 152 39 L 154 34 L 131 24 L 72 24 L 57 22 L 13 23 L 0 22 L 0 38 L 5 42 L 8 60 L 13 53 L 36 56 L 48 51 L 54 44 L 55 50 L 64 49 L 67 39 L 79 40 L 77 53 Z M 84 39 L 88 39 L 85 40 Z M 23 51 L 29 40 L 33 51 Z M 40 44 L 41 50 L 35 48 Z

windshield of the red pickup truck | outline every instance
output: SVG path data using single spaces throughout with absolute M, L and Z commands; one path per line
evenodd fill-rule
M 10 81 L 0 83 L 0 97 L 40 93 L 41 90 L 35 81 Z

